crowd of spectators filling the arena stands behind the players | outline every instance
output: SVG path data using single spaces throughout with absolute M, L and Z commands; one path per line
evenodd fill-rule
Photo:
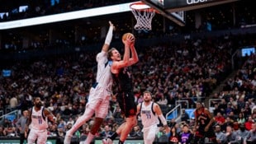
M 205 100 L 211 92 L 225 80 L 231 72 L 231 49 L 244 45 L 255 45 L 255 35 L 225 35 L 216 38 L 186 39 L 180 44 L 161 43 L 143 48 L 138 46 L 140 62 L 133 67 L 133 82 L 136 102 L 142 101 L 143 91 L 150 91 L 153 99 L 162 108 L 167 108 L 164 115 L 179 100 L 183 108 L 195 108 L 195 101 Z M 31 108 L 33 97 L 40 96 L 46 108 L 56 116 L 58 125 L 49 127 L 49 136 L 64 137 L 64 133 L 72 127 L 79 114 L 83 114 L 88 100 L 88 89 L 95 81 L 97 52 L 73 53 L 58 57 L 43 58 L 31 61 L 18 61 L 12 67 L 11 77 L 1 77 L 0 109 Z M 216 102 L 214 115 L 220 119 L 217 123 L 222 131 L 230 126 L 239 130 L 239 123 L 244 123 L 247 130 L 252 129 L 250 121 L 256 121 L 255 109 L 255 55 L 239 59 L 244 63 L 235 77 L 225 83 L 223 91 L 213 98 Z M 235 62 L 236 63 L 236 62 Z M 123 120 L 119 105 L 116 103 L 116 89 L 113 89 L 111 107 L 97 137 L 106 137 L 114 132 Z M 223 116 L 223 118 L 218 118 Z M 18 118 L 18 117 L 17 117 Z M 0 136 L 16 137 L 19 131 L 15 127 L 17 118 L 3 119 L 0 125 Z M 230 120 L 229 120 L 230 119 Z M 86 136 L 93 118 L 79 129 L 81 137 Z M 193 120 L 187 121 L 188 129 Z M 232 123 L 232 124 L 230 124 Z M 178 128 L 184 123 L 170 126 Z M 241 124 L 240 124 L 241 125 Z M 141 125 L 134 128 L 129 137 L 141 137 Z M 160 131 L 163 135 L 164 131 Z

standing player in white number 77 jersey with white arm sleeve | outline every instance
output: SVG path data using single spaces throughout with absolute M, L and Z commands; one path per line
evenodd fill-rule
M 167 121 L 164 118 L 159 105 L 152 101 L 152 95 L 149 91 L 143 93 L 143 102 L 137 105 L 137 113 L 140 114 L 143 125 L 143 139 L 145 144 L 152 144 L 157 132 L 159 132 L 159 119 L 164 125 L 165 131 L 169 132 Z

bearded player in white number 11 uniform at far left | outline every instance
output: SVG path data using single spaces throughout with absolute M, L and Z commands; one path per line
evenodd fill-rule
M 55 116 L 42 106 L 40 97 L 34 99 L 34 106 L 29 111 L 30 117 L 28 118 L 27 126 L 30 128 L 27 137 L 27 144 L 45 144 L 47 141 L 47 128 L 48 120 L 55 124 Z

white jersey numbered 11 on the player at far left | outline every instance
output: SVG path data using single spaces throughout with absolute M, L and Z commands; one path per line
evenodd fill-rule
M 32 108 L 30 128 L 36 130 L 44 130 L 48 128 L 47 118 L 45 118 L 45 115 L 43 115 L 43 110 L 43 106 L 41 106 L 41 109 L 38 111 L 35 110 L 35 107 Z

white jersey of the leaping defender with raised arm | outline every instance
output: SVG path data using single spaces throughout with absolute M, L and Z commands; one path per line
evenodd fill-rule
M 96 81 L 99 86 L 107 88 L 111 91 L 111 86 L 113 83 L 111 76 L 111 66 L 108 63 L 107 52 L 102 51 L 97 53 L 97 77 Z

